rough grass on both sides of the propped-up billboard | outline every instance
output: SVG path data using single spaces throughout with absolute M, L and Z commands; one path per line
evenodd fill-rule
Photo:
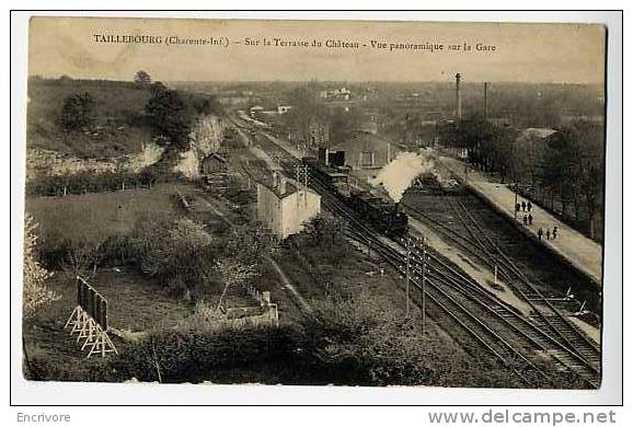
M 111 327 L 131 332 L 153 327 L 172 326 L 193 312 L 189 303 L 166 297 L 158 287 L 134 268 L 97 270 L 90 282 L 107 299 L 108 323 Z M 43 307 L 35 319 L 24 323 L 24 345 L 32 366 L 37 369 L 46 365 L 45 371 L 56 380 L 85 380 L 91 370 L 103 360 L 101 357 L 87 359 L 77 344 L 77 335 L 71 337 L 64 325 L 77 304 L 74 280 L 61 272 L 48 279 L 48 286 L 60 298 Z M 111 334 L 119 353 L 125 353 L 126 343 Z M 72 366 L 72 369 L 64 367 Z M 51 372 L 64 372 L 59 376 Z M 64 376 L 76 377 L 64 377 Z M 53 378 L 42 378 L 53 379 Z

